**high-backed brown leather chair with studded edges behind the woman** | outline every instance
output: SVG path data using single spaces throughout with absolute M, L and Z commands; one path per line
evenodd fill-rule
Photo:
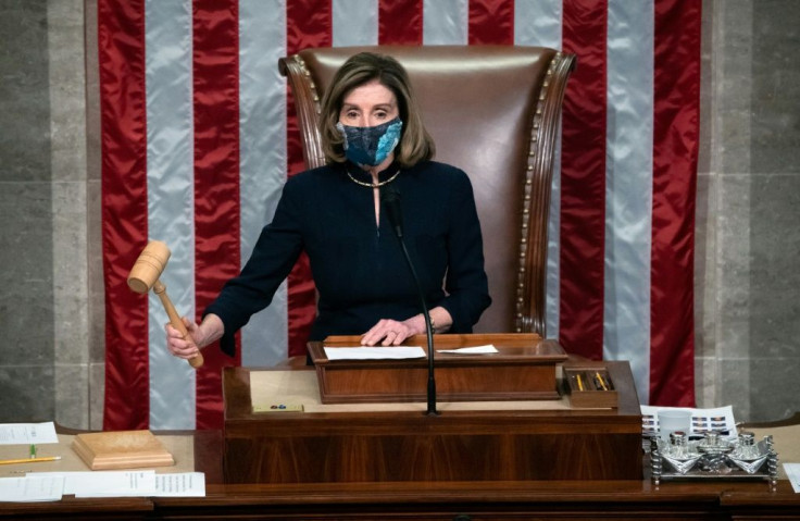
M 325 163 L 322 94 L 350 55 L 373 51 L 407 69 L 436 141 L 436 160 L 470 176 L 492 306 L 476 333 L 545 336 L 547 222 L 561 107 L 575 57 L 510 46 L 307 49 L 279 61 L 295 95 L 308 168 Z

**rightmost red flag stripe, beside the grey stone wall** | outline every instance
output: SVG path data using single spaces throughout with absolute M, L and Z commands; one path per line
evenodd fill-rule
M 695 405 L 701 2 L 655 2 L 650 404 Z

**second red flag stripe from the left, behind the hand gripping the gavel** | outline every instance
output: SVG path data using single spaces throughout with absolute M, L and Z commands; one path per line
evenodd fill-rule
M 236 2 L 195 0 L 195 285 L 198 313 L 240 269 L 239 13 Z M 197 427 L 221 429 L 222 368 L 234 362 L 204 350 L 197 375 Z M 236 364 L 240 363 L 237 349 Z

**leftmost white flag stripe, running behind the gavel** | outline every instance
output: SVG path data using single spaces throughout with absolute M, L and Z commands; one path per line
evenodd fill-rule
M 195 317 L 191 1 L 145 5 L 148 232 L 172 257 L 161 281 L 182 315 Z M 166 350 L 166 313 L 150 293 L 150 429 L 195 429 L 195 370 Z

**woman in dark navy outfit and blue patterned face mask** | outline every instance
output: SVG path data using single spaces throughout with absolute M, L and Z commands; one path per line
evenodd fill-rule
M 360 53 L 335 75 L 323 99 L 328 164 L 289 178 L 272 223 L 241 274 L 209 306 L 195 340 L 167 324 L 173 355 L 192 358 L 217 339 L 234 355 L 234 334 L 265 308 L 304 250 L 318 291 L 310 340 L 363 334 L 366 346 L 397 346 L 425 333 L 416 285 L 380 206 L 400 194 L 403 236 L 435 333 L 470 333 L 489 306 L 480 225 L 464 172 L 432 161 L 408 75 L 392 58 Z

